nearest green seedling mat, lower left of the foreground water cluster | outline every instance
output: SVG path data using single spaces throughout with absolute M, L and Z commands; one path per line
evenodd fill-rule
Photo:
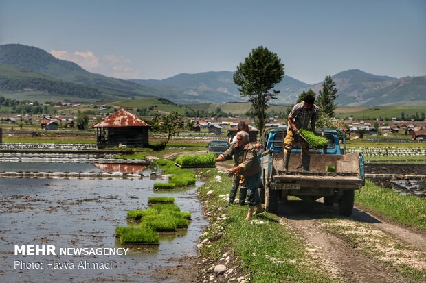
M 120 237 L 123 245 L 135 244 L 151 244 L 159 243 L 157 232 L 149 227 L 123 227 L 119 226 L 115 229 L 115 235 Z

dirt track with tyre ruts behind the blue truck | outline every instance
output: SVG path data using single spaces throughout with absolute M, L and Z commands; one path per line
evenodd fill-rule
M 412 282 L 401 275 L 403 266 L 426 268 L 424 234 L 385 223 L 360 208 L 350 218 L 338 218 L 337 207 L 320 203 L 288 201 L 279 208 L 282 225 L 304 239 L 309 253 L 338 282 Z

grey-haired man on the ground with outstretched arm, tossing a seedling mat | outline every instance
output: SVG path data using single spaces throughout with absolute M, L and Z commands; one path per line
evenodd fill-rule
M 236 134 L 236 143 L 232 143 L 231 147 L 224 153 L 219 154 L 216 162 L 229 160 L 234 156 L 235 167 L 229 169 L 229 177 L 234 175 L 243 175 L 247 184 L 247 202 L 249 211 L 245 219 L 251 219 L 254 212 L 254 207 L 257 206 L 256 214 L 262 213 L 265 210 L 260 204 L 259 185 L 261 166 L 256 150 L 249 143 L 249 134 L 245 131 L 240 131 Z

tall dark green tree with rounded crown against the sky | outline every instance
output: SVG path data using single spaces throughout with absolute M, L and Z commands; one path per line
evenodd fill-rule
M 276 53 L 266 47 L 253 49 L 244 63 L 236 67 L 234 82 L 240 88 L 240 97 L 249 97 L 251 108 L 247 114 L 255 118 L 260 133 L 265 128 L 268 101 L 276 99 L 278 90 L 271 90 L 284 77 L 284 64 Z

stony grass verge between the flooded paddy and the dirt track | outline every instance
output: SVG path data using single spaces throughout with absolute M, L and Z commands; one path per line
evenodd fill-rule
M 264 213 L 254 217 L 263 223 L 245 221 L 247 207 L 229 206 L 223 210 L 226 201 L 219 197 L 229 193 L 232 180 L 216 169 L 203 174 L 207 177 L 205 185 L 199 188 L 200 197 L 205 203 L 205 210 L 213 215 L 211 224 L 201 241 L 208 239 L 203 245 L 202 256 L 211 260 L 220 260 L 224 251 L 236 254 L 243 272 L 251 273 L 251 282 L 333 282 L 309 256 L 300 237 L 287 228 L 274 214 Z M 217 182 L 216 175 L 221 176 Z M 207 195 L 209 190 L 214 194 Z M 219 220 L 226 213 L 227 219 Z

